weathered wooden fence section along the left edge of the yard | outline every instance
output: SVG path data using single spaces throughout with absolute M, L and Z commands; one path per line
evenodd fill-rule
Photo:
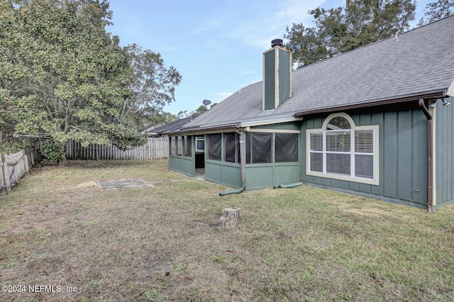
M 16 186 L 23 175 L 42 160 L 39 151 L 40 145 L 36 145 L 16 153 L 0 155 L 0 191 L 11 191 L 11 187 Z

